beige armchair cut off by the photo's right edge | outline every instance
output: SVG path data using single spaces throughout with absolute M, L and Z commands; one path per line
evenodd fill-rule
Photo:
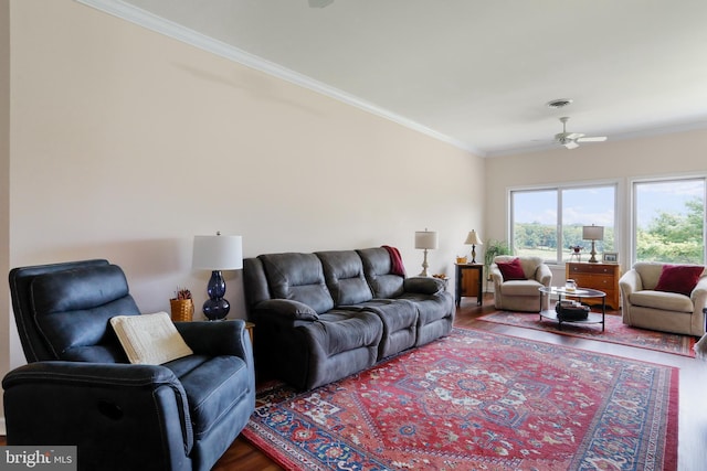
M 703 270 L 689 296 L 655 291 L 664 265 L 639 261 L 621 277 L 623 323 L 663 332 L 704 335 L 707 271 Z

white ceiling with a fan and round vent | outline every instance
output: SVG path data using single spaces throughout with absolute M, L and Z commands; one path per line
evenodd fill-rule
M 78 1 L 479 156 L 707 127 L 705 0 Z

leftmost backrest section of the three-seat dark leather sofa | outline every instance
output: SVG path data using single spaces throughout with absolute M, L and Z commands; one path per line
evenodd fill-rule
M 318 314 L 334 308 L 321 260 L 315 254 L 267 254 L 257 258 L 262 263 L 271 298 L 303 302 Z

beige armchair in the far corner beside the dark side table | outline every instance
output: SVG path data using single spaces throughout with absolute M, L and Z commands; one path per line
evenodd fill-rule
M 525 279 L 505 280 L 498 268 L 498 263 L 513 261 L 514 258 L 518 258 L 520 261 Z M 494 281 L 496 309 L 527 312 L 539 312 L 548 309 L 549 297 L 540 297 L 540 288 L 550 286 L 552 272 L 540 257 L 499 255 L 494 258 L 494 263 L 489 267 L 489 274 Z M 541 299 L 542 306 L 540 306 Z

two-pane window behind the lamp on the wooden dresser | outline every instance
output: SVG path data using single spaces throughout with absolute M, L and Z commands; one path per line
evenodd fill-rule
M 519 256 L 538 256 L 547 263 L 569 261 L 572 246 L 589 259 L 591 242 L 582 227 L 604 227 L 595 250 L 614 250 L 616 185 L 546 188 L 510 192 L 510 246 Z M 601 261 L 601 255 L 599 255 Z

